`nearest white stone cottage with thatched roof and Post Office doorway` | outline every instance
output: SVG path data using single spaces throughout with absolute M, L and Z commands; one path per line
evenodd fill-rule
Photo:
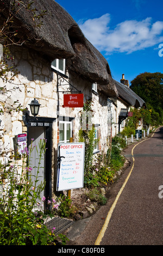
M 1 150 L 15 149 L 17 136 L 27 135 L 27 145 L 34 139 L 33 145 L 39 144 L 40 138 L 47 139 L 45 159 L 42 161 L 40 181 L 46 179 L 43 195 L 52 198 L 56 192 L 57 150 L 59 142 L 78 141 L 80 112 L 82 107 L 64 107 L 64 95 L 82 93 L 84 102 L 92 99 L 92 123 L 96 129 L 95 154 L 108 149 L 107 138 L 110 136 L 108 122 L 108 97 L 118 95 L 112 80 L 109 64 L 95 47 L 85 38 L 72 17 L 55 1 L 34 0 L 32 8 L 37 14 L 47 10 L 41 16 L 41 26 L 36 26 L 32 13 L 26 5 L 12 5 L 12 1 L 0 3 L 1 24 L 9 13 L 14 16 L 12 31 L 16 29 L 16 38 L 23 44 L 11 45 L 15 68 L 20 74 L 12 83 L 1 80 L 1 87 L 10 90 L 0 96 L 1 107 Z M 12 90 L 16 84 L 16 88 Z M 7 106 L 19 100 L 28 111 L 5 112 Z M 39 114 L 34 117 L 29 104 L 36 99 L 40 104 Z M 33 151 L 34 167 L 36 163 Z M 10 156 L 10 152 L 8 153 Z M 4 161 L 4 159 L 2 159 Z M 33 169 L 34 172 L 34 169 Z

